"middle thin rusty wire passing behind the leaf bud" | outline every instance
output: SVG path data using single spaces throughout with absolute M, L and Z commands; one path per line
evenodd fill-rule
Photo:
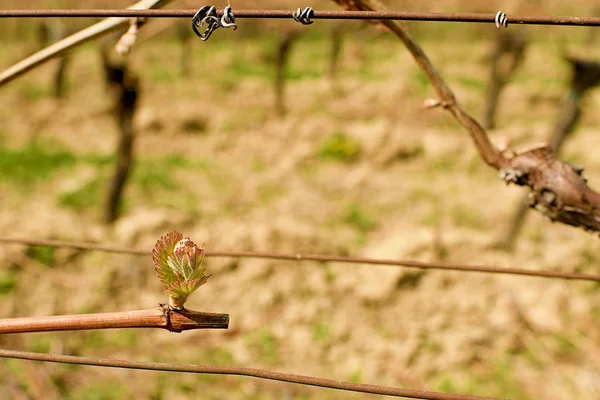
M 103 251 L 107 253 L 130 254 L 147 256 L 151 252 L 149 250 L 128 249 L 124 247 L 98 245 L 93 243 L 81 242 L 64 242 L 58 240 L 32 240 L 22 238 L 0 237 L 0 243 L 17 244 L 27 246 L 47 246 L 47 247 L 62 247 L 78 250 Z M 423 262 L 414 260 L 392 260 L 392 259 L 376 259 L 366 257 L 344 257 L 344 256 L 328 256 L 321 254 L 301 254 L 301 253 L 274 253 L 274 252 L 257 252 L 257 251 L 206 251 L 206 257 L 235 257 L 235 258 L 259 258 L 271 260 L 285 261 L 318 261 L 318 262 L 340 262 L 350 264 L 368 264 L 368 265 L 383 265 L 408 267 L 419 269 L 437 269 L 446 271 L 462 271 L 462 272 L 482 272 L 490 274 L 507 274 L 530 276 L 537 278 L 551 279 L 568 279 L 600 282 L 600 275 L 580 274 L 575 272 L 560 272 L 560 271 L 535 271 L 530 269 L 489 267 L 483 265 L 463 265 L 450 264 L 442 262 Z

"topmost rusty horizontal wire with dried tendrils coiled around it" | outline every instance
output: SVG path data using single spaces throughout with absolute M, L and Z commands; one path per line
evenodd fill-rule
M 290 18 L 293 10 L 233 10 L 236 18 Z M 0 10 L 0 18 L 47 18 L 47 17 L 147 17 L 147 18 L 192 18 L 197 10 Z M 218 15 L 223 14 L 219 10 Z M 600 18 L 572 16 L 525 16 L 507 15 L 509 24 L 523 25 L 566 25 L 600 26 Z M 360 20 L 405 20 L 437 22 L 487 22 L 496 23 L 496 14 L 433 13 L 407 11 L 316 11 L 312 19 L 360 19 Z

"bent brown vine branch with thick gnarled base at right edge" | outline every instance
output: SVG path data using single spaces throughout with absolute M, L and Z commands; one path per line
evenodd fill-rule
M 365 3 L 371 0 L 335 0 L 350 10 L 373 11 Z M 518 152 L 500 152 L 495 148 L 485 129 L 467 113 L 456 100 L 454 93 L 431 64 L 431 61 L 398 23 L 390 20 L 375 22 L 394 33 L 408 48 L 413 58 L 435 88 L 439 104 L 456 118 L 469 132 L 483 161 L 497 169 L 507 184 L 527 186 L 530 189 L 530 206 L 551 221 L 600 232 L 600 194 L 587 186 L 583 170 L 564 163 L 548 145 L 536 146 Z

